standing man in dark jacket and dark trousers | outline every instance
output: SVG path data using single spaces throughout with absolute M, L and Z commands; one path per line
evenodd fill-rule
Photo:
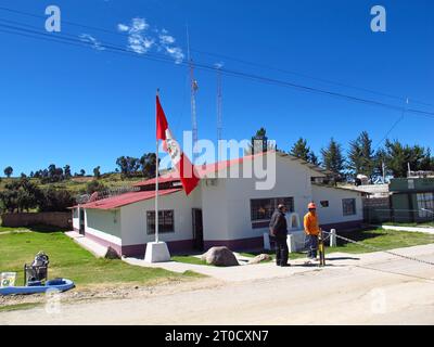
M 276 243 L 276 265 L 288 267 L 288 226 L 285 218 L 286 207 L 279 205 L 278 209 L 272 214 L 270 221 L 270 234 L 275 237 Z

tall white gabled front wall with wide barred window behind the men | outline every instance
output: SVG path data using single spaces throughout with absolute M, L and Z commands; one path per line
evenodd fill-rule
M 256 190 L 255 178 L 219 179 L 217 188 L 204 187 L 205 240 L 248 239 L 261 236 L 267 232 L 268 228 L 252 228 L 252 198 L 292 196 L 295 211 L 303 216 L 311 200 L 312 174 L 307 166 L 277 156 L 276 185 L 270 190 Z

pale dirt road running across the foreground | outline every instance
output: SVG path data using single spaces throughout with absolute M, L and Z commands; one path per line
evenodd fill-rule
M 413 249 L 434 261 L 433 246 Z M 0 324 L 434 324 L 434 266 L 384 254 L 357 257 L 146 298 L 4 312 Z

